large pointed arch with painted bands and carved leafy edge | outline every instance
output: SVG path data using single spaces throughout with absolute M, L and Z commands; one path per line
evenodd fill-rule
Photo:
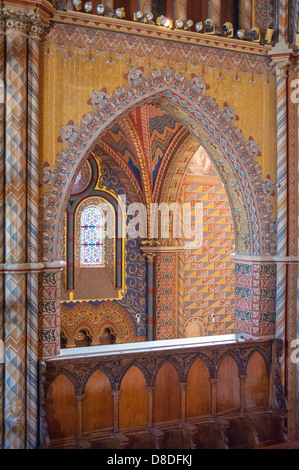
M 93 92 L 90 101 L 93 111 L 83 117 L 80 126 L 69 123 L 61 127 L 60 136 L 66 148 L 58 153 L 56 166 L 44 172 L 45 261 L 58 256 L 60 225 L 79 165 L 115 122 L 136 107 L 153 101 L 160 103 L 161 99 L 167 109 L 175 109 L 176 114 L 179 111 L 179 118 L 208 151 L 222 180 L 229 181 L 227 192 L 234 220 L 240 228 L 245 223 L 247 233 L 247 239 L 236 240 L 238 253 L 273 254 L 276 224 L 268 198 L 274 184 L 262 177 L 256 161 L 259 145 L 253 140 L 245 141 L 242 132 L 235 127 L 234 108 L 219 108 L 205 93 L 203 76 L 187 80 L 170 68 L 147 76 L 135 67 L 128 74 L 127 87 L 118 88 L 111 96 L 104 91 Z

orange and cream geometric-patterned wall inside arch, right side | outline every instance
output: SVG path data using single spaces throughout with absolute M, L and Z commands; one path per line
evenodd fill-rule
M 202 246 L 185 252 L 184 317 L 200 317 L 207 335 L 234 330 L 234 227 L 223 186 L 184 184 L 184 200 L 202 203 Z

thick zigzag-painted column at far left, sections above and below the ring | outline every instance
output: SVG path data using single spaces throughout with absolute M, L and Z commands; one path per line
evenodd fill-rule
M 27 38 L 6 36 L 5 261 L 26 262 Z M 23 449 L 26 403 L 26 275 L 5 278 L 4 447 Z

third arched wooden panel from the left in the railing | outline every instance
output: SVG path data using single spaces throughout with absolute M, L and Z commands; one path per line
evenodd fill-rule
M 146 381 L 138 367 L 131 367 L 124 376 L 119 395 L 119 428 L 146 426 L 148 394 Z

